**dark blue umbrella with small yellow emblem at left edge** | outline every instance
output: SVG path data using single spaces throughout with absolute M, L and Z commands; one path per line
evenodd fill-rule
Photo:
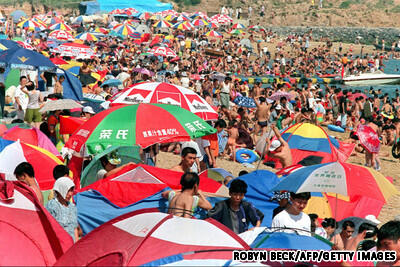
M 11 68 L 36 69 L 41 71 L 56 70 L 56 65 L 42 54 L 22 47 L 14 47 L 0 52 L 0 64 Z

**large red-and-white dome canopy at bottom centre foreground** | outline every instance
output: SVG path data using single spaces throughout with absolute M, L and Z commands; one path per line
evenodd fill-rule
M 231 258 L 233 250 L 249 249 L 249 246 L 231 230 L 211 219 L 188 219 L 139 210 L 90 232 L 55 266 L 86 266 L 100 261 L 102 265 L 131 266 L 149 262 L 160 265 L 161 262 L 155 261 L 178 253 L 193 256 L 203 251 L 201 258 L 212 258 L 218 249 L 226 250 Z M 110 257 L 115 254 L 117 258 Z

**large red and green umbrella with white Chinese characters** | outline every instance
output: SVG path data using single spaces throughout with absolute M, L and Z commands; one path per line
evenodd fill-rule
M 111 146 L 186 141 L 215 133 L 192 112 L 166 104 L 117 106 L 96 114 L 70 137 L 66 147 L 80 151 L 85 144 L 95 154 Z

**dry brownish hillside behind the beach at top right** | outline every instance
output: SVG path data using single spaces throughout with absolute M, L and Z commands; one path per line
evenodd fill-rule
M 234 9 L 241 6 L 247 19 L 251 5 L 250 23 L 265 26 L 400 27 L 400 0 L 322 0 L 322 8 L 319 3 L 320 0 L 201 0 L 197 6 L 182 9 L 219 12 L 222 5 Z M 261 18 L 262 5 L 265 16 Z

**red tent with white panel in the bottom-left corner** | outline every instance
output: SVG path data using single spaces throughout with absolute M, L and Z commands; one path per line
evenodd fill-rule
M 0 266 L 53 265 L 71 236 L 24 183 L 0 178 Z

